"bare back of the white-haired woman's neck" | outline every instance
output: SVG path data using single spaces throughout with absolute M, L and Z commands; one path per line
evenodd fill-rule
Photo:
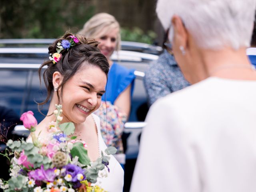
M 197 65 L 197 70 L 195 70 L 193 75 L 193 81 L 195 82 L 199 82 L 210 76 L 256 80 L 256 72 L 246 56 L 246 48 L 240 48 L 238 50 L 231 48 L 202 50 L 199 55 L 201 64 L 197 65 L 194 62 Z

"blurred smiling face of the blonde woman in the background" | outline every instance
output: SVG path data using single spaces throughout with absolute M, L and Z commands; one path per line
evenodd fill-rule
M 101 53 L 110 60 L 110 56 L 114 52 L 117 44 L 117 35 L 119 33 L 118 28 L 110 30 L 108 34 L 103 34 L 99 38 L 96 38 L 96 41 L 100 42 L 98 48 L 100 49 Z

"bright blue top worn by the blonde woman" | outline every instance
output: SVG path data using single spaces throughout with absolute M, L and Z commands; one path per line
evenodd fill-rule
M 102 96 L 102 101 L 110 101 L 114 104 L 116 98 L 131 84 L 131 98 L 134 89 L 134 69 L 127 69 L 114 62 L 108 72 L 106 93 Z

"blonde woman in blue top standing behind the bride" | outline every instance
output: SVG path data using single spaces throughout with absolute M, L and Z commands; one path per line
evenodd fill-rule
M 99 13 L 84 24 L 79 34 L 100 42 L 98 48 L 110 64 L 106 93 L 102 96 L 102 101 L 106 100 L 107 102 L 102 102 L 102 107 L 96 114 L 101 118 L 102 134 L 105 142 L 108 145 L 115 146 L 118 153 L 123 154 L 121 136 L 124 122 L 130 114 L 135 76 L 134 70 L 128 70 L 111 60 L 114 50 L 118 51 L 120 49 L 119 23 L 114 16 Z M 108 109 L 107 114 L 106 109 Z M 117 156 L 117 159 L 121 164 L 124 164 L 124 154 Z

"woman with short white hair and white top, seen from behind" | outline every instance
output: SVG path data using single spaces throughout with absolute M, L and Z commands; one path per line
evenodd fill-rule
M 131 192 L 256 191 L 256 72 L 246 56 L 255 6 L 158 1 L 166 47 L 193 85 L 150 108 Z

